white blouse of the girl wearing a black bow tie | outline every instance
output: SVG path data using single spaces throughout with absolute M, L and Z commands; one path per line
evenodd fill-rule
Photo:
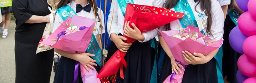
M 76 11 L 76 2 L 73 0 L 71 4 L 72 4 L 71 8 L 74 11 Z M 70 3 L 68 3 L 67 5 L 70 6 Z M 100 12 L 101 12 L 102 16 L 100 15 Z M 96 31 L 93 31 L 93 35 L 95 36 L 95 38 L 96 38 L 96 36 L 98 34 L 105 33 L 105 24 L 104 24 L 104 14 L 103 14 L 103 11 L 99 8 L 99 11 L 97 13 L 99 14 L 99 17 L 101 17 L 101 22 L 102 22 L 101 25 L 103 26 L 103 30 L 101 28 L 99 28 L 100 22 L 97 22 L 97 25 L 95 23 L 95 26 L 96 26 L 96 29 L 97 29 Z M 81 17 L 87 17 L 87 18 L 90 18 L 90 19 L 95 19 L 93 7 L 91 8 L 90 13 L 87 12 L 87 11 L 82 10 L 79 13 L 77 13 L 77 15 L 81 16 Z M 64 21 L 60 17 L 60 15 L 58 13 L 56 13 L 56 15 L 55 15 L 55 22 L 54 22 L 54 26 L 53 26 L 52 32 L 54 32 L 61 25 L 61 23 L 59 23 L 59 22 L 62 23 Z

